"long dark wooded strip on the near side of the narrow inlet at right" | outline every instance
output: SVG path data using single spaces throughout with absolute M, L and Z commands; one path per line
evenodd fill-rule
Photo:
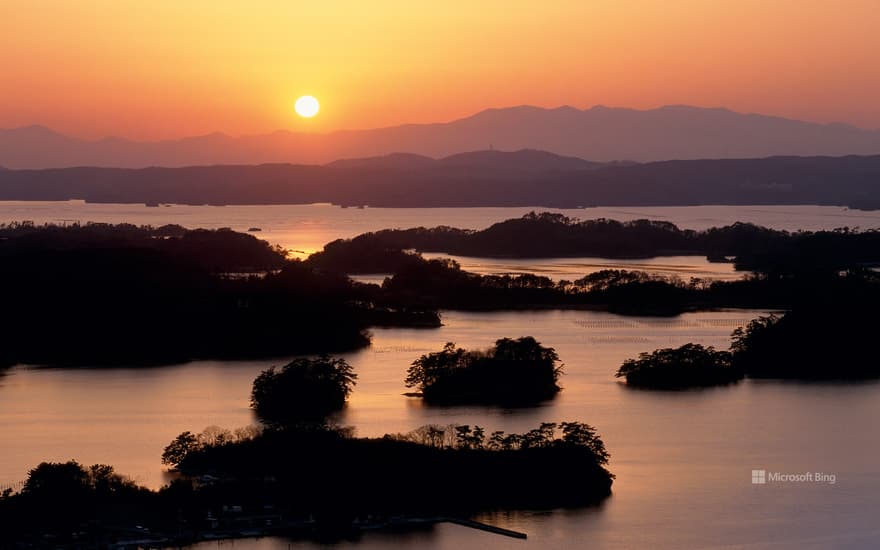
M 477 275 L 449 259 L 406 261 L 381 286 L 363 287 L 388 308 L 470 311 L 592 309 L 623 315 L 678 315 L 719 308 L 786 310 L 880 292 L 880 274 L 844 264 L 791 265 L 734 281 L 691 279 L 620 269 L 554 281 L 540 275 Z M 307 265 L 310 262 L 306 262 Z M 858 307 L 858 304 L 853 304 Z

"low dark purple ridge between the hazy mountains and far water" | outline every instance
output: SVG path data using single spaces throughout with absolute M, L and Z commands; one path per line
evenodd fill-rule
M 102 203 L 468 207 L 820 204 L 880 206 L 880 156 L 590 163 L 552 153 L 477 151 L 323 166 L 0 171 L 0 200 Z

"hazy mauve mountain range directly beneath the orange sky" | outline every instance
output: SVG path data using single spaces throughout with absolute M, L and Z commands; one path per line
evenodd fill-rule
M 329 134 L 277 131 L 232 137 L 215 133 L 154 142 L 121 138 L 84 141 L 29 126 L 0 130 L 0 165 L 15 169 L 320 164 L 389 153 L 436 158 L 493 147 L 538 149 L 603 162 L 869 155 L 880 153 L 880 130 L 687 106 L 646 111 L 602 106 L 586 110 L 522 106 L 488 109 L 437 124 Z M 403 160 L 399 155 L 394 157 L 392 160 Z M 418 156 L 406 158 L 414 166 L 422 162 Z M 355 162 L 350 161 L 349 166 Z M 383 161 L 370 162 L 381 166 Z

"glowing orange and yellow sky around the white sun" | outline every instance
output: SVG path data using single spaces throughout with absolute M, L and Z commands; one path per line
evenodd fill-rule
M 487 107 L 880 127 L 877 0 L 0 0 L 0 127 L 330 131 Z M 303 94 L 312 120 L 293 114 Z

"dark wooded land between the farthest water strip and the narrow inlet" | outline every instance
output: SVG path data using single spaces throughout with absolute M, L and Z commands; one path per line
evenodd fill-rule
M 702 231 L 655 220 L 578 220 L 531 212 L 486 229 L 385 229 L 328 243 L 310 262 L 350 273 L 390 273 L 400 251 L 493 258 L 653 258 L 699 255 L 733 261 L 737 269 L 780 270 L 812 262 L 880 264 L 880 231 L 841 228 L 791 233 L 750 223 Z

